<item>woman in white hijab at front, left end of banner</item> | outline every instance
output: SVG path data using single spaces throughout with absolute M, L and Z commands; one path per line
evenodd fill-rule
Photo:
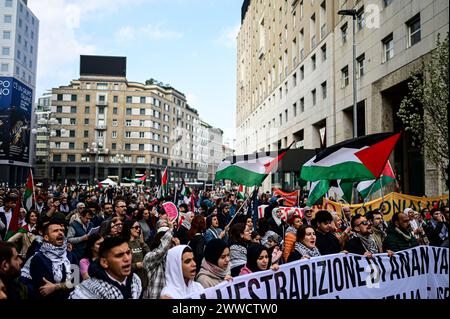
M 195 275 L 192 249 L 186 245 L 169 249 L 166 259 L 166 285 L 161 291 L 161 299 L 185 299 L 202 291 L 202 285 L 194 281 Z

